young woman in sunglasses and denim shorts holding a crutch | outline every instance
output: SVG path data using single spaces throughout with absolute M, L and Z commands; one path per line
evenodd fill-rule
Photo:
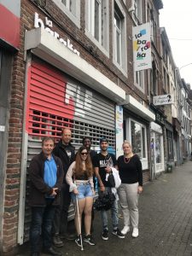
M 75 227 L 78 234 L 75 242 L 79 247 L 82 246 L 80 240 L 80 227 L 82 213 L 84 212 L 84 241 L 90 245 L 95 245 L 95 242 L 90 236 L 91 211 L 93 205 L 93 196 L 95 194 L 93 183 L 93 166 L 90 160 L 90 154 L 84 146 L 79 148 L 75 161 L 73 161 L 71 166 L 69 166 L 66 180 L 70 186 L 70 192 L 73 192 L 72 200 L 75 206 Z M 79 216 L 77 202 L 79 207 Z

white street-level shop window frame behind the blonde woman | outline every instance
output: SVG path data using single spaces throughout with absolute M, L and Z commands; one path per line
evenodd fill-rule
M 145 150 L 145 157 L 140 157 L 140 160 L 142 162 L 143 170 L 148 169 L 148 150 L 147 150 L 147 127 L 146 125 L 143 125 L 139 122 L 137 122 L 136 119 L 126 119 L 126 139 L 132 144 L 131 142 L 131 121 L 134 123 L 137 123 L 137 125 L 141 126 L 141 139 L 142 139 L 142 155 L 143 155 L 143 148 Z M 143 132 L 142 128 L 144 128 L 144 140 L 145 140 L 145 145 L 143 145 Z

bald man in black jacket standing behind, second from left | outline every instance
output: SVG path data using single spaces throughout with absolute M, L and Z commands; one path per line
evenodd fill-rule
M 75 160 L 75 148 L 70 143 L 72 139 L 72 131 L 69 128 L 64 128 L 61 134 L 61 140 L 55 146 L 53 154 L 58 156 L 61 159 L 64 178 L 63 184 L 61 187 L 61 205 L 55 209 L 55 218 L 54 218 L 54 237 L 53 242 L 56 247 L 62 247 L 63 242 L 61 241 L 61 236 L 72 240 L 73 236 L 67 235 L 67 217 L 68 217 L 68 208 L 71 203 L 71 195 L 69 193 L 69 186 L 66 183 L 66 173 L 68 167 Z

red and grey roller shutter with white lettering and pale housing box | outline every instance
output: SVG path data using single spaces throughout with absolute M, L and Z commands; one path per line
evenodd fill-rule
M 68 41 L 67 41 L 68 42 Z M 68 45 L 70 43 L 68 42 Z M 39 27 L 26 32 L 26 109 L 20 186 L 18 242 L 28 240 L 30 209 L 27 205 L 30 160 L 41 150 L 42 137 L 58 141 L 61 129 L 69 127 L 76 149 L 84 136 L 92 138 L 94 149 L 101 137 L 108 137 L 115 151 L 115 107 L 125 100 L 125 91 L 90 63 L 80 50 Z M 69 212 L 69 218 L 73 217 Z

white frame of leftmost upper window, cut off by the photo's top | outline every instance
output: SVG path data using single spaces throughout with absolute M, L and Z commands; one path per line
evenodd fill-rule
M 70 11 L 70 2 L 75 5 L 74 12 Z M 62 3 L 62 0 L 53 0 L 53 2 L 73 21 L 73 23 L 80 28 L 80 1 L 66 0 L 67 4 Z

